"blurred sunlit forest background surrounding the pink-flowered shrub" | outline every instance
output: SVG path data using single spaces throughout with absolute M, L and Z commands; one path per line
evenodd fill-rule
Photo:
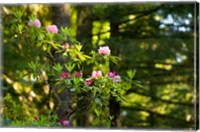
M 10 28 L 14 20 L 10 16 L 20 9 L 27 17 L 36 15 L 43 25 L 71 28 L 86 53 L 107 44 L 112 54 L 122 58 L 120 64 L 112 67 L 119 74 L 127 69 L 137 71 L 134 79 L 143 87 L 127 91 L 126 102 L 120 104 L 119 127 L 194 129 L 198 123 L 198 106 L 194 107 L 198 95 L 194 87 L 199 86 L 195 82 L 198 69 L 194 76 L 194 62 L 198 64 L 199 59 L 198 39 L 194 45 L 198 30 L 195 13 L 199 12 L 195 12 L 195 6 L 194 2 L 1 6 L 2 115 L 22 119 L 53 109 L 49 90 L 41 82 L 27 81 L 27 62 L 31 60 L 30 53 L 37 51 L 15 41 L 17 36 Z M 87 127 L 87 120 L 84 123 Z

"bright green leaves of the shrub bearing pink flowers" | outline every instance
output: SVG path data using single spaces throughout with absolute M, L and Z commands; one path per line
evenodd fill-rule
M 15 15 L 16 19 L 18 21 L 23 21 L 21 20 L 21 17 L 18 16 L 19 15 Z M 106 51 L 102 51 L 103 54 L 92 51 L 91 52 L 92 56 L 86 55 L 82 51 L 82 45 L 80 43 L 78 44 L 66 43 L 67 45 L 66 44 L 64 45 L 63 43 L 66 40 L 61 36 L 67 35 L 68 39 L 70 39 L 69 28 L 62 27 L 57 34 L 57 33 L 47 32 L 43 27 L 36 27 L 36 26 L 28 27 L 25 23 L 13 24 L 13 25 L 18 26 L 18 28 L 14 29 L 16 31 L 16 35 L 21 34 L 23 30 L 24 34 L 32 38 L 30 44 L 37 43 L 37 45 L 33 47 L 37 47 L 38 50 L 40 50 L 40 52 L 44 53 L 41 56 L 33 56 L 32 59 L 34 61 L 30 61 L 27 63 L 27 66 L 30 68 L 29 74 L 33 75 L 34 78 L 37 78 L 36 81 L 41 81 L 47 86 L 54 88 L 53 90 L 54 93 L 49 93 L 49 94 L 56 95 L 56 97 L 59 99 L 58 106 L 63 103 L 63 101 L 59 98 L 58 94 L 62 93 L 65 87 L 70 89 L 70 92 L 73 96 L 78 96 L 78 94 L 81 93 L 91 94 L 89 104 L 92 105 L 88 108 L 94 111 L 94 113 L 97 116 L 95 118 L 101 120 L 97 122 L 97 119 L 94 119 L 94 121 L 92 121 L 93 122 L 92 124 L 94 126 L 96 125 L 107 126 L 107 127 L 110 126 L 109 124 L 107 124 L 107 121 L 110 119 L 111 115 L 109 115 L 108 112 L 106 114 L 105 112 L 103 113 L 102 107 L 104 107 L 104 109 L 106 108 L 107 110 L 109 109 L 108 101 L 110 99 L 110 96 L 116 97 L 116 101 L 121 101 L 121 96 L 122 96 L 121 91 L 125 90 L 123 85 L 124 83 L 128 83 L 128 82 L 123 82 L 125 80 L 122 80 L 119 75 L 114 75 L 114 76 L 108 75 L 110 71 L 109 68 L 110 62 L 116 64 L 119 58 L 116 56 L 112 56 L 110 53 L 106 53 Z M 20 37 L 21 41 L 26 39 L 26 35 L 21 35 Z M 62 57 L 66 58 L 67 61 L 64 63 L 58 62 L 56 64 L 53 64 L 52 62 L 54 62 L 56 58 L 52 54 L 52 50 L 54 50 L 55 53 L 61 53 Z M 103 50 L 110 50 L 110 49 L 103 49 Z M 42 58 L 45 57 L 46 60 L 42 60 Z M 82 69 L 84 69 L 84 66 L 87 64 L 93 65 L 91 66 L 91 71 L 93 71 L 91 73 L 92 76 L 91 74 L 84 76 L 82 75 L 83 73 Z M 77 70 L 80 70 L 81 72 L 76 73 Z M 48 75 L 51 75 L 51 80 L 48 80 Z M 118 78 L 115 78 L 115 76 L 117 76 Z M 92 82 L 90 84 L 87 84 L 87 79 L 90 79 Z M 56 93 L 55 87 L 54 85 L 52 85 L 53 83 L 55 83 L 56 86 L 59 85 L 64 85 L 64 86 L 60 87 Z M 83 100 L 84 98 L 82 99 L 82 101 Z M 80 103 L 82 103 L 82 101 Z M 77 105 L 76 109 L 79 109 L 80 111 L 83 110 L 84 107 L 85 107 L 84 105 L 83 106 Z M 49 120 L 51 120 L 51 116 L 49 115 L 49 113 L 47 113 L 46 116 L 42 116 L 41 119 L 39 119 L 37 122 L 27 121 L 26 123 L 26 121 L 24 120 L 22 121 L 17 120 L 16 122 L 12 122 L 11 124 L 13 126 L 19 126 L 19 125 L 29 126 L 32 124 L 34 126 L 42 126 L 44 125 L 44 122 L 49 122 Z M 50 122 L 50 124 L 46 123 L 45 126 L 56 125 L 52 123 L 53 122 Z

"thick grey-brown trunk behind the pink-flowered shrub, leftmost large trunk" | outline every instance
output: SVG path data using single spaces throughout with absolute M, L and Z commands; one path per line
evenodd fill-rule
M 52 5 L 52 22 L 53 24 L 57 25 L 58 28 L 60 27 L 69 27 L 70 25 L 70 6 L 69 4 L 63 5 Z M 65 62 L 62 59 L 61 54 L 54 54 L 55 62 L 61 63 L 61 65 Z M 60 93 L 58 93 L 58 89 L 62 87 L 60 86 L 54 87 L 57 97 L 54 97 L 54 104 L 56 109 L 56 114 L 58 115 L 60 120 L 71 120 L 69 119 L 69 114 L 72 111 L 70 109 L 70 101 L 71 101 L 71 94 L 68 88 L 63 89 Z M 62 102 L 60 102 L 60 101 Z

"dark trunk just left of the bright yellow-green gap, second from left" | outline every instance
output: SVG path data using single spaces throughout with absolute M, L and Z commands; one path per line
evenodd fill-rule
M 81 42 L 83 45 L 83 51 L 85 53 L 89 53 L 92 50 L 92 20 L 88 17 L 91 12 L 91 6 L 89 5 L 78 5 L 76 6 L 77 10 L 77 40 Z M 88 70 L 87 67 L 84 67 L 84 73 L 87 74 Z M 81 95 L 81 94 L 80 94 Z M 87 100 L 85 100 L 85 103 Z M 90 100 L 88 100 L 88 103 Z M 81 103 L 80 101 L 77 101 L 78 106 L 83 105 L 79 104 Z M 83 102 L 82 102 L 83 103 Z M 84 107 L 84 106 L 83 106 Z M 80 108 L 82 109 L 82 108 Z M 77 124 L 82 127 L 82 126 L 88 126 L 88 114 L 78 114 L 77 113 Z

